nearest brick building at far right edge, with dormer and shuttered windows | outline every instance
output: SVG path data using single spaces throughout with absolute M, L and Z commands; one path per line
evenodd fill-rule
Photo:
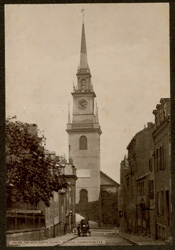
M 170 99 L 162 98 L 153 114 L 156 237 L 168 239 L 172 235 Z

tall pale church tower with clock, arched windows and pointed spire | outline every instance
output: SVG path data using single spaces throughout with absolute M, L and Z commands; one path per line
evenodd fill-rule
M 82 24 L 80 65 L 77 84 L 73 86 L 73 115 L 68 114 L 69 159 L 77 168 L 76 203 L 99 199 L 100 194 L 100 135 L 102 133 L 96 94 L 87 62 L 85 26 Z M 95 107 L 96 106 L 96 107 Z

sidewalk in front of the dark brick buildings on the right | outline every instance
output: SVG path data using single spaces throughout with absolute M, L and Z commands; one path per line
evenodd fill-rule
M 119 236 L 134 243 L 135 245 L 167 245 L 165 241 L 153 240 L 148 236 L 135 235 L 129 233 L 120 232 Z

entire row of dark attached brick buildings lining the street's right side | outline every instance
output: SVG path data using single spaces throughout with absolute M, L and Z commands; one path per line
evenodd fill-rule
M 162 98 L 153 111 L 155 124 L 138 132 L 120 166 L 120 230 L 171 237 L 170 99 Z

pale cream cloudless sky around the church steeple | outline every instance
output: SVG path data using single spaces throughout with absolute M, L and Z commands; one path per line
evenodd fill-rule
M 6 5 L 6 116 L 37 124 L 47 149 L 68 156 L 83 7 L 101 170 L 120 182 L 127 145 L 170 97 L 168 3 Z

